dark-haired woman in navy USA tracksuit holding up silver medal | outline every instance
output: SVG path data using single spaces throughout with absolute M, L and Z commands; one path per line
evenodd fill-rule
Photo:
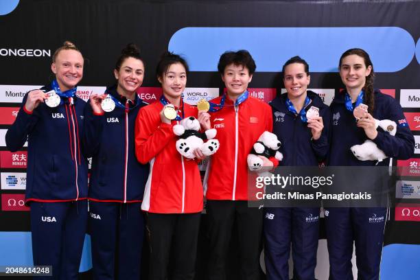
M 140 208 L 149 166 L 135 156 L 135 120 L 146 105 L 136 93 L 144 77 L 143 58 L 136 45 L 121 51 L 114 74 L 117 84 L 103 95 L 93 95 L 84 111 L 86 153 L 92 156 L 89 230 L 93 275 L 95 279 L 139 279 L 144 232 Z M 105 98 L 115 108 L 101 106 Z

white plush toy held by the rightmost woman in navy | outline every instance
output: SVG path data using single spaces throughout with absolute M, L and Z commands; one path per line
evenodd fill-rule
M 375 119 L 375 123 L 376 128 L 380 127 L 392 136 L 395 136 L 395 133 L 397 133 L 397 124 L 395 121 L 389 119 L 382 119 L 382 121 L 380 121 Z M 366 140 L 361 145 L 353 145 L 350 150 L 359 161 L 377 161 L 377 163 L 380 163 L 388 157 L 380 148 L 377 148 L 377 145 L 371 140 Z

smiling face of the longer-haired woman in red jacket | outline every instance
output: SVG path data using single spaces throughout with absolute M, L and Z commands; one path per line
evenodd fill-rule
M 168 100 L 178 100 L 187 84 L 187 71 L 181 63 L 174 63 L 167 68 L 162 77 L 158 77 L 162 90 Z

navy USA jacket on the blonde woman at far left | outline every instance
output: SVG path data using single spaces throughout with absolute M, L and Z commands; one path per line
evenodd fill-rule
M 50 91 L 51 86 L 41 90 Z M 87 198 L 87 161 L 81 150 L 86 102 L 62 98 L 49 108 L 41 103 L 32 113 L 23 106 L 5 136 L 8 150 L 16 152 L 27 140 L 26 201 L 61 202 Z

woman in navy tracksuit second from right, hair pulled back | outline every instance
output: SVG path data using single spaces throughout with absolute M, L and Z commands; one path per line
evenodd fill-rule
M 309 66 L 299 56 L 283 65 L 288 93 L 270 103 L 273 132 L 281 141 L 283 166 L 318 166 L 328 152 L 329 108 L 318 95 L 307 91 Z M 312 106 L 319 117 L 307 119 Z M 267 279 L 289 279 L 288 259 L 292 242 L 294 279 L 311 279 L 318 248 L 319 207 L 271 207 L 265 209 L 264 237 Z

